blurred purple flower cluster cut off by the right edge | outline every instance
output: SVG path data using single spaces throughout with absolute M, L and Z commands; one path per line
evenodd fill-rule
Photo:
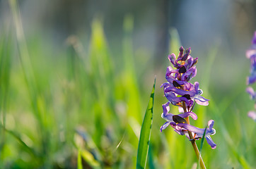
M 252 46 L 248 51 L 246 51 L 246 57 L 250 59 L 250 76 L 247 78 L 247 84 L 253 84 L 256 82 L 256 31 L 254 36 L 252 37 Z M 256 94 L 252 87 L 248 87 L 246 89 L 248 94 L 250 94 L 252 100 L 255 101 L 256 108 Z M 248 116 L 256 121 L 256 113 L 255 111 L 250 111 Z

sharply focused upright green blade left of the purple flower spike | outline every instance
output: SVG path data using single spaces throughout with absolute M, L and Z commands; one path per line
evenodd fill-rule
M 145 168 L 146 158 L 149 152 L 149 141 L 151 135 L 151 127 L 153 121 L 153 98 L 155 95 L 156 79 L 153 84 L 153 89 L 150 95 L 149 104 L 146 108 L 146 113 L 141 126 L 141 135 L 139 137 L 139 146 L 137 153 L 136 168 Z

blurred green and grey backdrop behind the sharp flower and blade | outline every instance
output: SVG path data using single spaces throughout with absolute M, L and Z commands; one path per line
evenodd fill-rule
M 255 17 L 253 0 L 0 0 L 0 168 L 135 168 L 155 77 L 147 168 L 193 168 L 187 138 L 159 132 L 167 56 L 180 45 L 199 58 L 192 82 L 211 100 L 192 122 L 215 120 L 206 167 L 255 168 Z

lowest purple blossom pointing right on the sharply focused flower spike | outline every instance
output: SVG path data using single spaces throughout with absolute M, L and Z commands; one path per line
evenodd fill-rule
M 185 123 L 178 123 L 178 126 L 185 128 L 186 130 L 194 133 L 194 139 L 199 139 L 204 136 L 205 129 L 200 129 L 198 127 L 194 127 L 192 125 L 188 125 Z M 211 135 L 214 135 L 216 133 L 216 130 L 213 128 L 214 120 L 209 120 L 208 126 L 209 126 L 209 128 L 206 128 L 205 138 L 206 138 L 207 143 L 211 146 L 211 149 L 215 149 L 216 144 L 212 141 L 212 139 L 210 137 Z

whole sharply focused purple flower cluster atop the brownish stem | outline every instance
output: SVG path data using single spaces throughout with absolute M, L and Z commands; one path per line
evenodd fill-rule
M 202 89 L 199 89 L 199 82 L 194 84 L 189 81 L 197 75 L 196 64 L 198 58 L 190 56 L 191 49 L 185 50 L 180 47 L 180 54 L 176 58 L 175 54 L 170 54 L 168 59 L 173 67 L 169 66 L 166 70 L 165 79 L 167 82 L 163 83 L 163 91 L 168 102 L 163 104 L 162 118 L 167 122 L 161 126 L 161 132 L 169 125 L 173 127 L 175 132 L 180 135 L 186 135 L 190 140 L 200 139 L 204 135 L 205 129 L 200 129 L 189 124 L 185 119 L 190 116 L 197 120 L 197 115 L 192 112 L 194 104 L 208 106 L 209 99 L 205 99 L 202 95 Z M 174 115 L 169 113 L 169 105 L 178 106 L 180 114 Z M 216 144 L 212 141 L 210 135 L 215 134 L 213 128 L 214 120 L 209 120 L 208 128 L 205 132 L 206 141 L 212 149 L 216 148 Z M 192 133 L 193 138 L 189 136 Z

